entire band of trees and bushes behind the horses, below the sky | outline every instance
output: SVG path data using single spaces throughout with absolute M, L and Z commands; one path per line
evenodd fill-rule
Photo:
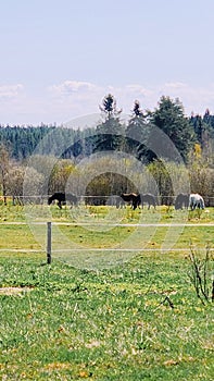
M 0 192 L 47 196 L 67 188 L 77 195 L 151 192 L 163 198 L 180 190 L 214 196 L 214 115 L 185 115 L 179 99 L 158 107 L 134 102 L 122 121 L 106 95 L 96 127 L 0 125 Z

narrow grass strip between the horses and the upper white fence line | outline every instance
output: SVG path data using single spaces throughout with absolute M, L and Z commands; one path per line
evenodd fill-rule
M 174 207 L 159 206 L 156 210 L 151 207 L 131 210 L 129 207 L 116 209 L 115 207 L 85 207 L 78 208 L 47 205 L 8 206 L 0 205 L 0 223 L 16 221 L 24 222 L 26 218 L 37 221 L 58 222 L 88 222 L 88 223 L 165 223 L 165 222 L 213 222 L 214 208 L 206 208 L 202 213 L 198 211 L 175 210 Z

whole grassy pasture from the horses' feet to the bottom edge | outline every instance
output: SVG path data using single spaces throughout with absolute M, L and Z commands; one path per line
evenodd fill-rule
M 212 208 L 201 216 L 166 207 L 30 208 L 38 222 L 51 210 L 74 248 L 105 256 L 119 248 L 121 262 L 89 270 L 59 260 L 53 228 L 48 266 L 24 208 L 0 206 L 2 380 L 213 380 L 213 304 L 201 303 L 189 278 L 190 242 L 199 258 L 213 248 Z M 166 237 L 173 247 L 160 251 Z M 126 260 L 128 244 L 135 255 Z

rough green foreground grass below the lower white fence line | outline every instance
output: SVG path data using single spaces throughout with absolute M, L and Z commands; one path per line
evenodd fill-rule
M 197 299 L 187 258 L 139 255 L 99 272 L 42 265 L 1 257 L 0 286 L 23 290 L 0 295 L 2 380 L 213 379 L 213 306 Z

